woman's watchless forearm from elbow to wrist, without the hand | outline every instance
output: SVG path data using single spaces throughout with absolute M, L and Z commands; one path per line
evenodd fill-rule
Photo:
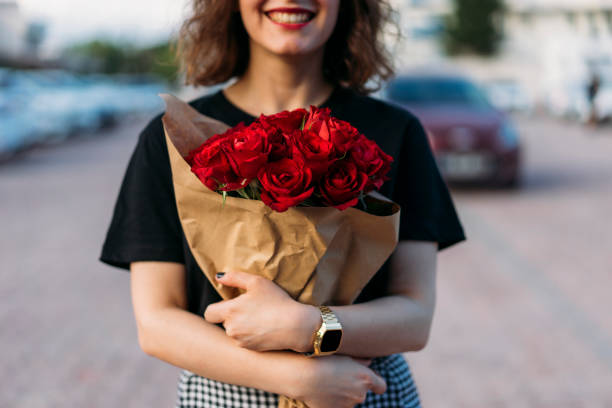
M 152 313 L 141 323 L 139 339 L 147 354 L 203 377 L 290 397 L 299 382 L 297 359 L 306 358 L 239 347 L 220 327 L 179 308 Z

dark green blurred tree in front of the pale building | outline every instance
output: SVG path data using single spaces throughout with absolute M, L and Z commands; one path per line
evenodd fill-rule
M 493 55 L 503 39 L 503 0 L 453 0 L 444 24 L 444 46 L 450 55 Z

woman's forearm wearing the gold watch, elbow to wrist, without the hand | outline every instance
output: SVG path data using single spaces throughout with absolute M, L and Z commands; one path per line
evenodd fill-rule
M 355 357 L 378 357 L 422 349 L 427 343 L 433 310 L 407 296 L 392 295 L 369 302 L 330 306 L 342 324 L 338 353 Z M 311 307 L 307 323 L 314 332 L 321 323 L 318 309 Z M 310 350 L 308 350 L 310 351 Z

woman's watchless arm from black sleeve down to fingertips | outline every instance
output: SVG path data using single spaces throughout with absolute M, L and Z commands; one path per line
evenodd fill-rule
M 368 389 L 385 391 L 384 381 L 363 361 L 346 356 L 315 360 L 290 351 L 261 353 L 238 346 L 221 328 L 185 310 L 181 264 L 135 262 L 130 270 L 138 339 L 148 355 L 217 381 L 311 402 L 351 401 L 347 396 L 358 401 Z

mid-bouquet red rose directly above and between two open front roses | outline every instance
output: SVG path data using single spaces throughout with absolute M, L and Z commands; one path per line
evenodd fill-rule
M 312 178 L 316 183 L 327 171 L 334 161 L 334 145 L 324 140 L 312 130 L 294 131 L 293 154 L 302 156 L 305 165 L 312 171 Z

